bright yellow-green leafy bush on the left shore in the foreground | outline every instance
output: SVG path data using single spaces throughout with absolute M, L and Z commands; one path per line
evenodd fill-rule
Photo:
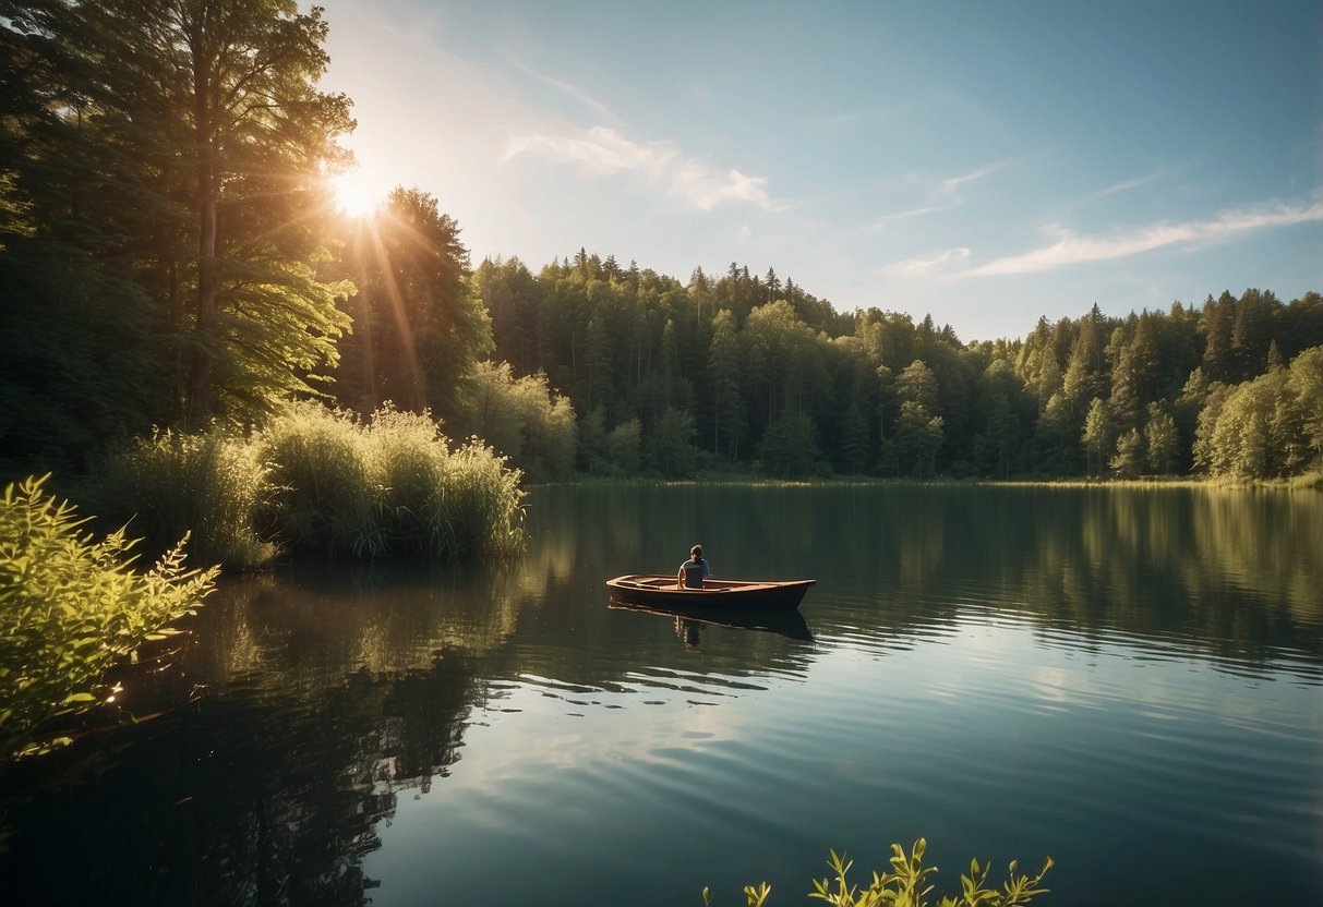
M 41 726 L 110 701 L 106 670 L 172 633 L 216 576 L 185 569 L 184 541 L 136 571 L 123 529 L 94 539 L 45 481 L 0 500 L 0 762 L 67 743 L 41 739 Z

